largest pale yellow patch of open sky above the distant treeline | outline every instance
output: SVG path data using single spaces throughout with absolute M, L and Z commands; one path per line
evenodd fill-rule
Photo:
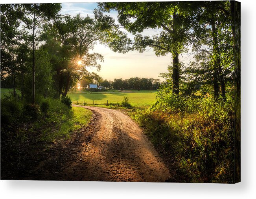
M 96 72 L 103 79 L 114 80 L 114 78 L 129 79 L 130 77 L 145 77 L 164 80 L 159 78 L 159 73 L 167 72 L 167 66 L 171 61 L 171 54 L 157 57 L 153 49 L 139 53 L 130 51 L 128 53 L 114 53 L 108 47 L 98 44 L 94 51 L 104 56 L 101 62 L 101 71 L 95 68 L 88 69 Z

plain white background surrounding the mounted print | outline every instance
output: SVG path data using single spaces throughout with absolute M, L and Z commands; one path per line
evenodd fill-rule
M 6 1 L 3 3 L 52 1 Z M 72 2 L 61 0 L 54 2 Z M 76 2 L 85 2 L 76 0 Z M 91 0 L 92 2 L 92 0 Z M 2 198 L 256 198 L 255 102 L 256 9 L 241 0 L 241 183 L 107 183 L 64 181 L 0 181 Z

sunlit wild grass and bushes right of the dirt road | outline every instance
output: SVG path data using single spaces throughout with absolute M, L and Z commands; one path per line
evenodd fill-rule
M 178 100 L 179 101 L 175 101 Z M 183 182 L 233 182 L 233 106 L 212 97 L 173 97 L 134 119 L 175 160 Z

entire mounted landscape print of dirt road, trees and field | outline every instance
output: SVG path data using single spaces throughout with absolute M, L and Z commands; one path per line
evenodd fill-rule
M 240 181 L 240 3 L 1 4 L 1 179 Z

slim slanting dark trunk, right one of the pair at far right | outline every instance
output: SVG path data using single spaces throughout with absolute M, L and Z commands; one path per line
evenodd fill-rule
M 219 78 L 219 83 L 221 86 L 221 96 L 225 99 L 225 81 L 223 78 L 223 72 L 221 68 L 221 60 L 219 58 L 219 45 L 218 45 L 218 40 L 217 40 L 217 31 L 215 27 L 215 20 L 211 20 L 210 25 L 212 26 L 212 40 L 213 40 L 213 48 L 214 48 L 214 71 L 217 71 L 217 75 Z M 218 96 L 215 96 L 218 97 Z

